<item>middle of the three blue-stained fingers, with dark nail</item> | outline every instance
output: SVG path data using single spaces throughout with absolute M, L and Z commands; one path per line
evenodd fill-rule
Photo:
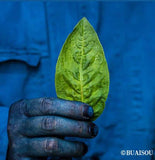
M 98 133 L 92 122 L 77 121 L 59 116 L 37 116 L 28 118 L 22 128 L 23 134 L 35 136 L 68 136 L 92 138 Z

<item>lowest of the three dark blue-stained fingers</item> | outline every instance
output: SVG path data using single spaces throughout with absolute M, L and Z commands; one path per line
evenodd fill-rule
M 32 138 L 27 144 L 25 155 L 29 157 L 80 157 L 87 152 L 82 142 L 71 142 L 59 138 Z

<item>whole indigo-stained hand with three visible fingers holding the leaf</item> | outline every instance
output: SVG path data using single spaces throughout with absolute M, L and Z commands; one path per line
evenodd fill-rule
M 90 121 L 93 109 L 81 102 L 52 98 L 21 100 L 10 107 L 8 160 L 79 157 L 87 152 L 82 142 L 63 137 L 92 138 L 98 128 Z

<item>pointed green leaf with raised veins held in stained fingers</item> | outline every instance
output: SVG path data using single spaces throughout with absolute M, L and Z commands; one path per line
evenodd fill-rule
M 92 106 L 93 120 L 102 113 L 109 92 L 109 71 L 102 45 L 85 17 L 62 47 L 55 85 L 59 98 Z

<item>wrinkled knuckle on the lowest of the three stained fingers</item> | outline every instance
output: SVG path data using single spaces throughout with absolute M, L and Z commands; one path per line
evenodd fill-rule
M 47 139 L 44 142 L 44 151 L 48 153 L 58 151 L 58 140 L 56 138 Z

